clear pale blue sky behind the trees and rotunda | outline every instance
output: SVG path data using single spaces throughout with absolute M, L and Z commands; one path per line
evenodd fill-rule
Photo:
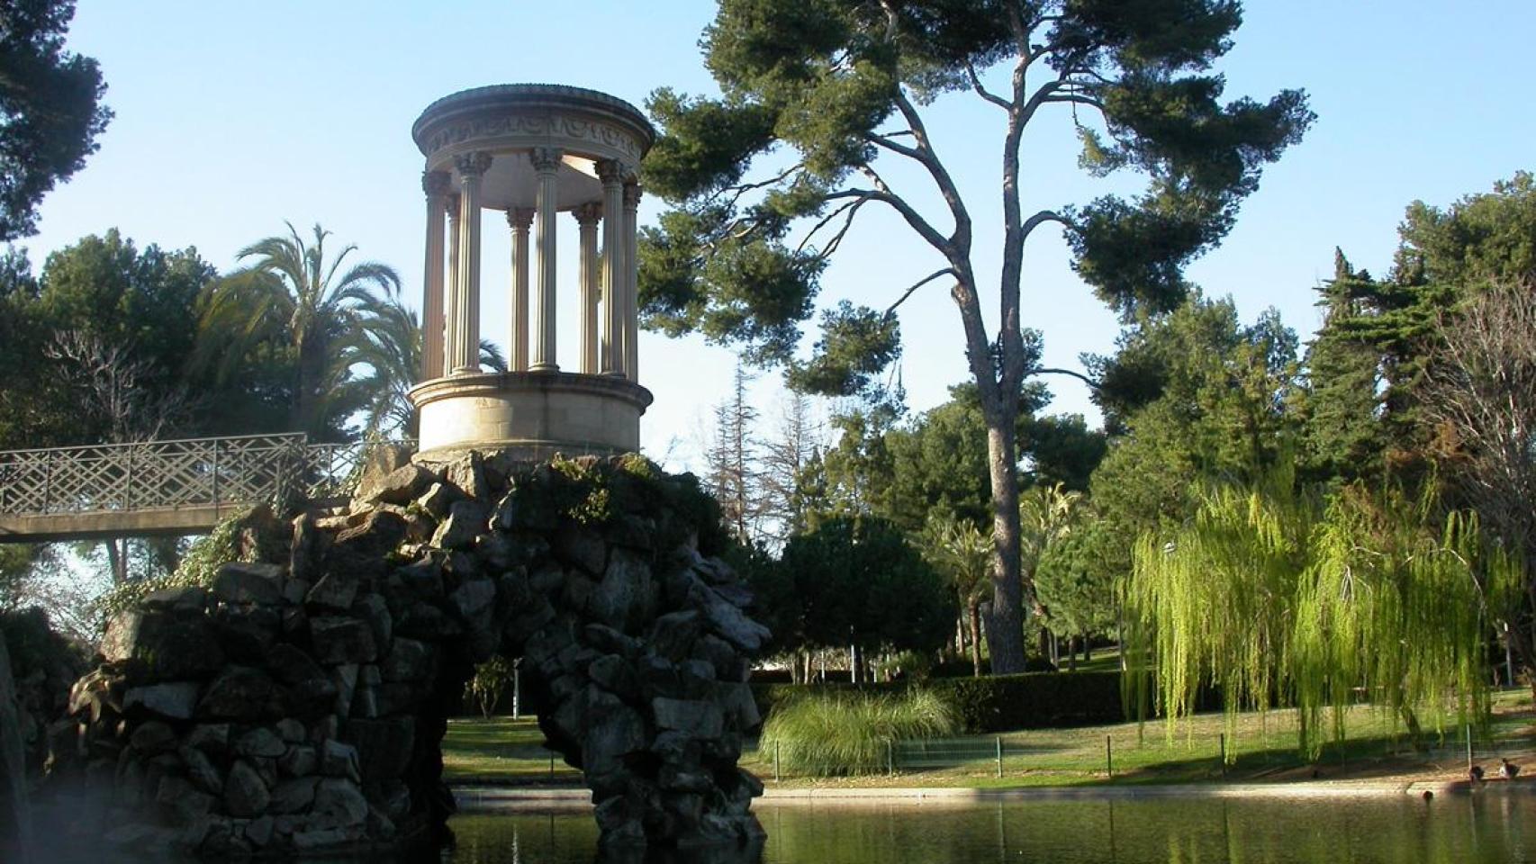
M 195 246 L 220 269 L 235 252 L 321 223 L 359 255 L 393 264 L 419 298 L 421 155 L 410 124 L 432 100 L 492 83 L 593 87 L 642 104 L 659 86 L 710 92 L 697 49 L 714 11 L 696 0 L 531 3 L 81 0 L 69 48 L 95 57 L 117 112 L 101 150 L 43 204 L 26 246 L 37 265 L 83 235 L 117 227 L 141 246 Z M 1448 204 L 1533 167 L 1536 120 L 1530 34 L 1536 3 L 1250 0 L 1221 64 L 1227 95 L 1266 98 L 1304 87 L 1319 120 L 1270 166 L 1223 247 L 1190 270 L 1209 295 L 1232 295 L 1244 319 L 1275 305 L 1303 335 L 1318 324 L 1318 279 L 1333 247 L 1382 272 L 1413 200 Z M 1066 110 L 1063 107 L 1063 110 Z M 977 265 L 995 279 L 995 110 L 957 95 L 934 106 L 940 155 L 978 223 Z M 1026 138 L 1026 206 L 1084 201 L 1106 189 L 1075 169 L 1064 115 Z M 914 196 L 915 176 L 895 175 Z M 909 183 L 908 183 L 909 181 Z M 653 219 L 657 203 L 642 206 Z M 938 267 L 886 215 L 856 229 L 823 281 L 823 301 L 883 305 Z M 487 223 L 485 335 L 505 339 L 507 239 Z M 570 232 L 574 236 L 574 232 Z M 567 242 L 565 250 L 574 244 Z M 568 275 L 568 276 L 567 276 Z M 574 264 L 562 264 L 574 279 Z M 903 307 L 909 404 L 928 408 L 965 378 L 958 316 L 940 285 Z M 1109 351 L 1114 319 L 1077 282 L 1058 236 L 1026 249 L 1026 324 L 1046 336 L 1049 365 Z M 995 293 L 986 308 L 995 305 Z M 570 315 L 565 315 L 570 319 Z M 568 333 L 568 328 L 562 328 Z M 570 336 L 562 336 L 571 345 Z M 708 405 L 733 356 L 697 339 L 642 336 L 641 378 L 656 393 L 645 448 L 694 462 Z M 765 374 L 757 399 L 773 413 Z M 1054 410 L 1092 414 L 1086 393 L 1054 381 Z

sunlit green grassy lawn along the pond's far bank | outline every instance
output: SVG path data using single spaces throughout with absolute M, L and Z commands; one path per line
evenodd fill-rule
M 1097 658 L 1095 658 L 1097 660 Z M 1401 729 L 1370 707 L 1349 714 L 1349 738 L 1330 744 L 1316 763 L 1296 750 L 1296 712 L 1272 711 L 1244 714 L 1235 740 L 1226 746 L 1236 761 L 1223 769 L 1220 752 L 1226 718 L 1220 714 L 1195 717 L 1178 726 L 1172 740 L 1163 721 L 1146 726 L 1118 723 L 1078 729 L 1031 729 L 1003 734 L 1003 777 L 997 777 L 997 737 L 969 738 L 949 747 L 949 754 L 925 763 L 902 766 L 895 775 L 852 778 L 782 777 L 773 781 L 773 754 L 750 750 L 742 766 L 770 786 L 1084 786 L 1135 783 L 1269 783 L 1287 780 L 1372 780 L 1384 777 L 1458 778 L 1465 772 L 1465 741 L 1461 729 L 1447 729 L 1439 740 L 1425 734 L 1416 749 Z M 1106 738 L 1114 757 L 1114 778 L 1106 766 Z M 558 757 L 550 773 L 550 755 L 541 743 L 533 720 L 453 720 L 442 741 L 444 773 L 450 783 L 573 784 L 581 777 Z M 1505 691 L 1495 700 L 1490 729 L 1475 741 L 1475 758 L 1485 767 L 1499 757 L 1530 761 L 1536 754 L 1536 718 L 1530 691 Z M 1536 766 L 1528 766 L 1536 770 Z

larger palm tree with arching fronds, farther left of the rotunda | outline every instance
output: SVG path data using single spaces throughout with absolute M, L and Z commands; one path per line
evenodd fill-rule
M 387 264 L 361 261 L 341 272 L 356 246 L 326 259 L 330 232 L 318 224 L 306 242 L 292 223 L 287 236 L 263 238 L 240 250 L 250 264 L 220 282 L 203 308 L 200 359 L 217 358 L 227 381 L 261 342 L 290 351 L 289 428 L 316 436 L 338 434 L 339 422 L 356 408 L 344 387 L 350 364 L 341 356 L 359 327 L 358 310 L 399 295 L 399 275 Z M 379 293 L 375 293 L 379 292 Z

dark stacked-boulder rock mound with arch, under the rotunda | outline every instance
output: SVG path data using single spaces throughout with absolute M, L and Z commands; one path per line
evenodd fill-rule
M 736 763 L 768 632 L 691 477 L 465 453 L 252 533 L 260 560 L 117 615 L 71 694 L 55 746 L 111 787 L 109 839 L 212 858 L 430 841 L 453 806 L 447 718 L 496 654 L 524 658 L 605 844 L 760 836 Z

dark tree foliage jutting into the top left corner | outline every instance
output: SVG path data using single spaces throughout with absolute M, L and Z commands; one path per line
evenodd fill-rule
M 74 0 L 0 9 L 0 242 L 37 230 L 37 206 L 84 167 L 112 112 L 97 61 L 65 51 Z

